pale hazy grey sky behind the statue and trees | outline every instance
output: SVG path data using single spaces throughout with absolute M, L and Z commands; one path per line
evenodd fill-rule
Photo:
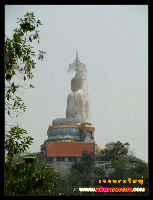
M 47 52 L 28 82 L 35 88 L 20 94 L 27 109 L 17 121 L 34 138 L 30 151 L 40 151 L 52 120 L 66 116 L 75 75 L 67 70 L 77 49 L 88 70 L 95 142 L 100 148 L 111 141 L 129 142 L 135 156 L 147 162 L 148 6 L 6 5 L 7 37 L 12 39 L 17 18 L 26 12 L 34 12 L 44 25 L 40 44 L 31 46 Z

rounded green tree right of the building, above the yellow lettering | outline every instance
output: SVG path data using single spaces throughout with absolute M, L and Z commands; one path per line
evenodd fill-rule
M 111 161 L 114 171 L 111 178 L 127 179 L 137 178 L 147 173 L 147 164 L 133 155 L 129 155 L 129 143 L 120 141 L 107 143 L 105 148 L 96 155 L 96 160 Z

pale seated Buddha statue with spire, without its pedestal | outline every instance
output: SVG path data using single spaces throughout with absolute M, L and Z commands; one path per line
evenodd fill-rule
M 71 90 L 72 92 L 67 97 L 67 108 L 66 108 L 66 118 L 57 118 L 52 121 L 52 125 L 74 125 L 77 123 L 84 123 L 88 120 L 89 115 L 89 101 L 87 95 L 83 92 L 83 81 L 82 72 L 79 66 L 83 64 L 80 63 L 78 55 L 73 63 L 73 68 L 76 71 L 76 75 L 71 80 Z M 72 68 L 72 64 L 70 65 Z

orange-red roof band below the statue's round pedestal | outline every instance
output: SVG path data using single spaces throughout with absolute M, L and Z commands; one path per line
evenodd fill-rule
M 82 151 L 94 153 L 94 143 L 51 143 L 46 142 L 48 156 L 82 156 Z

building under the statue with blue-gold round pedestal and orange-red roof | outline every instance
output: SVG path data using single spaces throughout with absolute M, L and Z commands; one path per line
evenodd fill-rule
M 49 126 L 41 151 L 51 170 L 65 176 L 83 151 L 95 154 L 94 130 L 92 124 Z

